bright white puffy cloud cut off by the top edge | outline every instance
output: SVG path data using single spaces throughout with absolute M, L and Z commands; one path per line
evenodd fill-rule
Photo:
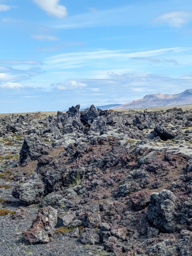
M 59 0 L 33 0 L 33 2 L 44 10 L 48 15 L 56 18 L 65 18 L 67 9 L 63 5 L 59 5 Z

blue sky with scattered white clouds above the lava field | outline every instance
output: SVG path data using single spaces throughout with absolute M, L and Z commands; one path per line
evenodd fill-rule
M 191 0 L 0 0 L 0 113 L 192 88 Z

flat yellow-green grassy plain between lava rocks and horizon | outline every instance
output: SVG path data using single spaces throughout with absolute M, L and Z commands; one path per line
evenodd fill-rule
M 182 108 L 183 110 L 190 110 L 192 109 L 192 104 L 188 105 L 174 105 L 174 106 L 159 106 L 159 107 L 152 107 L 152 108 L 147 108 L 147 111 L 155 111 L 155 110 L 163 110 L 166 111 L 167 109 L 171 108 Z M 144 111 L 144 109 L 117 109 L 115 111 L 123 112 L 123 111 L 129 111 L 129 110 L 134 110 L 134 111 Z M 66 113 L 66 111 L 61 111 L 63 113 Z M 11 115 L 11 114 L 18 114 L 18 115 L 26 115 L 30 113 L 38 113 L 38 112 L 26 112 L 26 113 L 0 113 L 0 116 L 6 116 L 6 115 Z M 47 112 L 39 112 L 42 115 L 56 115 L 57 111 L 47 111 Z

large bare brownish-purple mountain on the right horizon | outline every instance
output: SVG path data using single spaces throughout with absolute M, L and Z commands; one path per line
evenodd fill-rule
M 192 104 L 192 89 L 185 90 L 178 94 L 163 94 L 160 92 L 147 94 L 143 99 L 134 100 L 110 109 L 142 109 L 185 104 Z

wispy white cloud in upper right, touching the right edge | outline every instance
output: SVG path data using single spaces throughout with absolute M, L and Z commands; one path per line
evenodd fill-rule
M 187 24 L 192 18 L 192 12 L 176 11 L 165 13 L 157 17 L 154 22 L 168 23 L 170 27 L 180 28 Z

